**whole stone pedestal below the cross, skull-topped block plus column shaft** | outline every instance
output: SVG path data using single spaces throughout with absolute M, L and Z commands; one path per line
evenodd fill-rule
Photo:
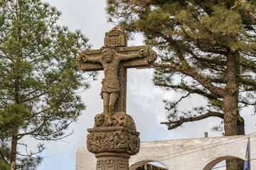
M 95 116 L 94 128 L 87 129 L 87 149 L 97 158 L 96 170 L 128 170 L 129 158 L 139 152 L 139 132 L 134 120 L 117 112 L 107 125 L 103 113 Z

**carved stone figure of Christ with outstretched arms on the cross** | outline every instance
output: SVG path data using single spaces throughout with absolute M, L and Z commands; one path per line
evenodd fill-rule
M 80 56 L 80 62 L 96 62 L 102 64 L 105 79 L 102 79 L 102 90 L 100 95 L 103 98 L 103 113 L 107 124 L 111 124 L 110 116 L 114 115 L 114 104 L 117 101 L 120 91 L 119 85 L 119 64 L 122 61 L 132 60 L 146 56 L 146 49 L 139 50 L 137 53 L 120 54 L 111 45 L 105 45 L 101 53 L 94 57 L 87 55 Z

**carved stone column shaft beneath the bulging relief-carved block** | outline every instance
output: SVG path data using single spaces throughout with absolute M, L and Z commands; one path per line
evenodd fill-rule
M 128 170 L 129 154 L 104 152 L 95 154 L 96 170 Z

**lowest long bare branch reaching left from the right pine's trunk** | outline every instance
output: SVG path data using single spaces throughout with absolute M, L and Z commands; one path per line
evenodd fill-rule
M 205 118 L 210 118 L 210 117 L 218 117 L 218 118 L 223 119 L 224 114 L 219 113 L 219 112 L 209 111 L 208 113 L 206 113 L 204 115 L 199 115 L 199 116 L 196 116 L 196 117 L 193 117 L 193 118 L 183 118 L 183 119 L 176 120 L 176 121 L 161 122 L 161 124 L 169 125 L 168 130 L 172 130 L 174 128 L 177 128 L 177 127 L 181 126 L 183 123 L 203 120 Z

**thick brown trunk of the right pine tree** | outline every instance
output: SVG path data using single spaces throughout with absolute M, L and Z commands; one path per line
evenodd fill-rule
M 226 75 L 226 94 L 223 98 L 223 112 L 224 112 L 224 130 L 225 136 L 231 135 L 245 135 L 245 123 L 240 117 L 238 111 L 238 95 L 239 84 L 238 76 L 240 75 L 239 69 L 239 53 L 229 52 L 227 56 L 227 75 Z M 231 156 L 231 155 L 230 155 Z M 226 167 L 228 170 L 243 169 L 242 159 L 227 159 Z

